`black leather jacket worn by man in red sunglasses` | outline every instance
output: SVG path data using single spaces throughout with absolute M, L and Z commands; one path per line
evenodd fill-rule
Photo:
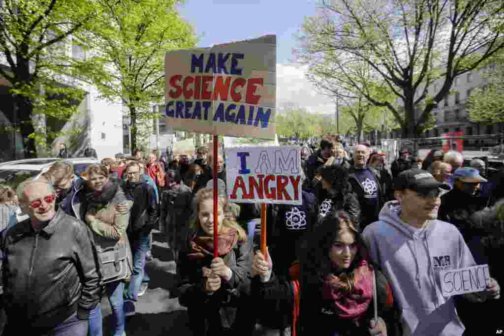
M 87 319 L 101 298 L 98 254 L 89 228 L 59 210 L 40 231 L 30 219 L 2 241 L 2 305 L 19 330 L 41 334 L 77 312 Z

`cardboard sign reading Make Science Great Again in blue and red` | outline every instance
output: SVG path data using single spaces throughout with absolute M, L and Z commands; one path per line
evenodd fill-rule
M 276 36 L 168 51 L 166 124 L 216 135 L 275 139 Z

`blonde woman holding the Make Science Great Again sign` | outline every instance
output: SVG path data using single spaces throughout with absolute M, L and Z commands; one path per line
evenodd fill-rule
M 178 300 L 192 321 L 195 334 L 227 335 L 253 327 L 245 304 L 250 286 L 250 245 L 245 231 L 218 199 L 218 257 L 214 257 L 213 189 L 196 194 L 196 219 L 177 263 Z M 248 318 L 248 321 L 247 321 Z

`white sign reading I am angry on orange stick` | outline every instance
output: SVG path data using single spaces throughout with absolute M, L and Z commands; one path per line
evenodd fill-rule
M 236 203 L 301 205 L 301 148 L 226 149 L 229 200 Z

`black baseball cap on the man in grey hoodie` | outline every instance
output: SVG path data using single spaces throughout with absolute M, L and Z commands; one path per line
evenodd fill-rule
M 448 184 L 436 181 L 431 173 L 422 169 L 405 170 L 394 179 L 394 190 L 411 189 L 426 192 L 436 188 L 450 190 Z

